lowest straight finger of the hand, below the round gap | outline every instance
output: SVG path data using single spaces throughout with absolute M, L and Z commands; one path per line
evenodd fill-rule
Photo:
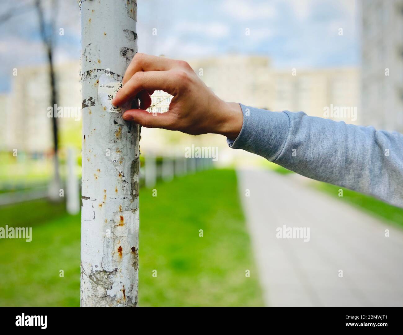
M 133 121 L 146 128 L 172 129 L 173 116 L 170 113 L 149 113 L 145 110 L 127 110 L 123 119 Z

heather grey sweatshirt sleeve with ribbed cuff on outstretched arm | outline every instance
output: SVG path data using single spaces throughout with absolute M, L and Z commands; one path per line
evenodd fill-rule
M 233 149 L 403 207 L 402 134 L 240 105 L 241 132 L 235 141 L 227 139 Z

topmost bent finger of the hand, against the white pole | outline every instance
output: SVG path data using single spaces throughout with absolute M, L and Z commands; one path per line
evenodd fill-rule
M 177 60 L 165 57 L 157 57 L 147 54 L 137 53 L 129 64 L 125 76 L 123 77 L 123 85 L 129 81 L 133 74 L 139 71 L 168 71 L 178 65 Z

